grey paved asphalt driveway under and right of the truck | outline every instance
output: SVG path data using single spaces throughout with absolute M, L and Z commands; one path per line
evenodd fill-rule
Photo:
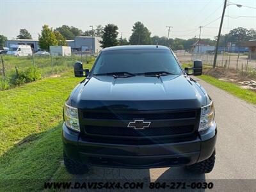
M 237 99 L 197 77 L 193 78 L 211 95 L 216 110 L 218 140 L 216 163 L 211 173 L 195 175 L 186 172 L 184 168 L 128 170 L 94 167 L 88 175 L 77 175 L 76 179 L 143 179 L 147 182 L 161 182 L 166 181 L 165 179 L 206 179 L 207 182 L 214 182 L 214 190 L 209 191 L 252 191 L 253 187 L 256 187 L 256 106 Z

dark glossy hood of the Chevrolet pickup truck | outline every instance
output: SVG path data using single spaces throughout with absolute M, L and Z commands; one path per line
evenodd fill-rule
M 70 96 L 77 108 L 120 106 L 122 109 L 200 108 L 205 93 L 184 75 L 161 77 L 93 76 L 79 84 Z

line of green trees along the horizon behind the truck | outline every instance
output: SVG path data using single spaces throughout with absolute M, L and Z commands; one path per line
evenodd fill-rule
M 75 36 L 101 36 L 100 43 L 102 47 L 110 47 L 116 45 L 165 45 L 171 47 L 173 50 L 184 49 L 189 51 L 191 45 L 198 41 L 198 38 L 167 38 L 166 36 L 151 36 L 149 29 L 142 23 L 136 22 L 132 26 L 132 34 L 127 40 L 122 36 L 118 38 L 118 26 L 115 24 L 107 24 L 106 26 L 98 25 L 95 29 L 82 31 L 74 26 L 63 25 L 58 28 L 52 29 L 47 25 L 42 27 L 42 31 L 38 37 L 39 46 L 41 49 L 49 50 L 50 45 L 67 45 L 67 40 L 74 40 Z M 17 36 L 19 39 L 32 39 L 31 34 L 26 29 L 20 29 Z M 227 47 L 227 42 L 243 45 L 243 42 L 256 38 L 256 31 L 254 29 L 235 28 L 230 30 L 229 33 L 221 35 L 220 46 Z M 0 35 L 0 46 L 4 46 L 7 38 Z M 210 38 L 202 38 L 202 41 L 208 45 L 216 44 L 216 37 L 214 40 Z

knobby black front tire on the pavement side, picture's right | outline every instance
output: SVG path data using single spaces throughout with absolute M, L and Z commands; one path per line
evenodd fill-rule
M 212 152 L 211 157 L 201 161 L 199 163 L 191 164 L 186 166 L 187 170 L 191 173 L 210 173 L 215 163 L 215 149 Z

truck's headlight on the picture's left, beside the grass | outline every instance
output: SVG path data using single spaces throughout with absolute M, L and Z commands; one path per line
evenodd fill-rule
M 64 106 L 64 121 L 68 128 L 80 132 L 77 108 L 72 108 L 65 104 Z

